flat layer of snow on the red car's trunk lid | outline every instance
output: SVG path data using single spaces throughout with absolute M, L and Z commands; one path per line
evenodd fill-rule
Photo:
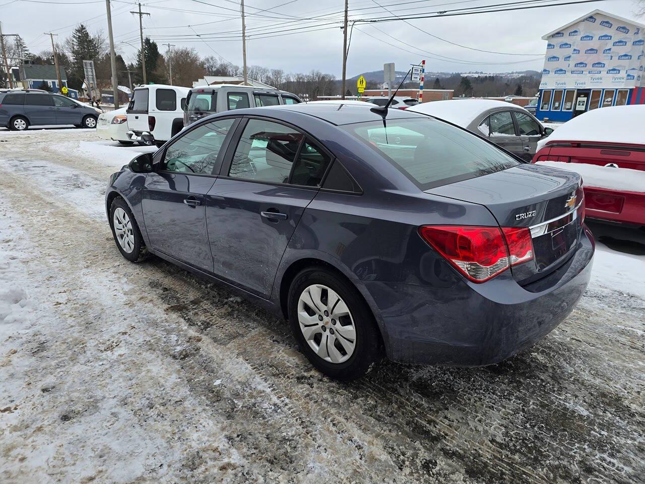
M 536 165 L 576 172 L 582 176 L 585 187 L 608 188 L 608 190 L 621 192 L 645 192 L 645 172 L 642 170 L 563 161 L 538 161 Z

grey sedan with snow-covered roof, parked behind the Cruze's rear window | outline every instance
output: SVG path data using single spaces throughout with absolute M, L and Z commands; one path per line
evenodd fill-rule
M 485 136 L 496 145 L 531 161 L 537 142 L 549 136 L 535 116 L 520 106 L 492 99 L 450 99 L 410 106 L 410 111 L 430 114 Z

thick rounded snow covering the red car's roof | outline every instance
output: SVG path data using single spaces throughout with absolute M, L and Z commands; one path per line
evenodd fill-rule
M 553 132 L 544 143 L 553 141 L 596 141 L 600 143 L 642 144 L 645 105 L 599 108 L 576 116 Z M 540 148 L 541 146 L 538 146 Z

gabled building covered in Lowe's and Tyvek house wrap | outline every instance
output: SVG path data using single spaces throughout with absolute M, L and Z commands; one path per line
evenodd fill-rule
M 645 104 L 645 25 L 594 10 L 542 39 L 538 119 L 568 121 L 592 109 Z

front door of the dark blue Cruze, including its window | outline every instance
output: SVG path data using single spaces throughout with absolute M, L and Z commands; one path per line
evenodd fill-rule
M 209 272 L 213 259 L 204 202 L 234 122 L 218 119 L 187 130 L 165 148 L 159 168 L 146 176 L 141 196 L 151 247 Z

